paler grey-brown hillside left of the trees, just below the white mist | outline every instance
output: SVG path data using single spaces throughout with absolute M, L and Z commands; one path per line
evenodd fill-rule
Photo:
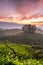
M 0 37 L 17 35 L 21 32 L 21 29 L 0 29 Z

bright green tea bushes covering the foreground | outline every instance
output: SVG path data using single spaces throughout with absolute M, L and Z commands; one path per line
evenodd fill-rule
M 32 59 L 34 50 L 31 46 L 17 44 L 8 46 L 14 49 L 16 56 L 14 57 L 15 54 L 10 48 L 0 43 L 0 65 L 43 65 L 43 60 Z

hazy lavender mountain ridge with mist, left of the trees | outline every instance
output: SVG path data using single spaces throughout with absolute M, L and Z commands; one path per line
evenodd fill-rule
M 0 22 L 0 29 L 21 29 L 22 24 L 11 23 L 11 22 Z

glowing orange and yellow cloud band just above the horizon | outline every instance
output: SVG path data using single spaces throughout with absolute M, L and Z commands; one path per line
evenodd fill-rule
M 9 15 L 3 15 L 3 16 L 0 15 L 0 21 L 15 22 L 18 24 L 43 25 L 43 12 L 32 15 L 30 17 L 27 16 L 13 17 Z

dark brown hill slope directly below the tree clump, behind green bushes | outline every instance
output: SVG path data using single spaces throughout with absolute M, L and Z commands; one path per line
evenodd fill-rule
M 4 36 L 0 38 L 1 41 L 9 40 L 15 43 L 24 44 L 43 44 L 43 34 L 39 33 L 24 33 L 23 31 L 16 35 Z

